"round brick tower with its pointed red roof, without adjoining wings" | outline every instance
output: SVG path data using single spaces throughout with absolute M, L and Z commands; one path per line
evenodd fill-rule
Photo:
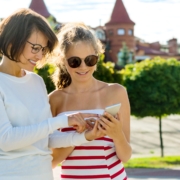
M 117 54 L 121 51 L 123 43 L 126 44 L 131 53 L 135 53 L 134 25 L 135 23 L 130 19 L 122 0 L 116 0 L 111 18 L 105 24 L 112 61 L 117 61 Z

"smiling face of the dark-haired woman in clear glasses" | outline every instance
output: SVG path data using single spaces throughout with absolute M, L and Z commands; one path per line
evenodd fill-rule
M 32 44 L 38 44 L 42 47 L 46 47 L 48 39 L 40 31 L 34 31 L 32 35 L 28 38 L 24 50 L 19 57 L 20 62 L 17 62 L 18 65 L 25 70 L 33 71 L 36 63 L 43 58 L 43 48 L 40 48 L 39 52 L 33 53 L 35 46 Z M 29 43 L 30 42 L 30 43 Z M 32 43 L 32 44 L 31 44 Z

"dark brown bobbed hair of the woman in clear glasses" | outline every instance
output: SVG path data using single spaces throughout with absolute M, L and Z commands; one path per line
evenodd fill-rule
M 18 62 L 33 31 L 41 31 L 47 37 L 50 54 L 58 42 L 55 33 L 43 16 L 26 8 L 15 11 L 0 23 L 0 53 Z

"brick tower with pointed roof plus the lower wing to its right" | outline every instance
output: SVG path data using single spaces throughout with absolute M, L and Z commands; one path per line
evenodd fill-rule
M 121 53 L 123 43 L 126 44 L 133 61 L 151 59 L 155 56 L 163 58 L 174 57 L 180 60 L 180 44 L 173 38 L 167 44 L 153 43 L 134 35 L 135 23 L 130 19 L 122 0 L 116 0 L 111 18 L 102 28 L 106 34 L 106 54 L 111 61 L 118 62 L 118 54 Z

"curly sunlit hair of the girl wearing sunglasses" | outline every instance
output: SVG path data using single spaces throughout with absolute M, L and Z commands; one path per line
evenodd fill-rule
M 58 33 L 60 58 L 56 60 L 56 71 L 52 76 L 52 80 L 56 89 L 62 89 L 71 84 L 71 77 L 67 72 L 63 59 L 66 53 L 77 42 L 86 42 L 92 45 L 97 55 L 104 52 L 103 45 L 95 36 L 92 30 L 83 23 L 67 23 Z

